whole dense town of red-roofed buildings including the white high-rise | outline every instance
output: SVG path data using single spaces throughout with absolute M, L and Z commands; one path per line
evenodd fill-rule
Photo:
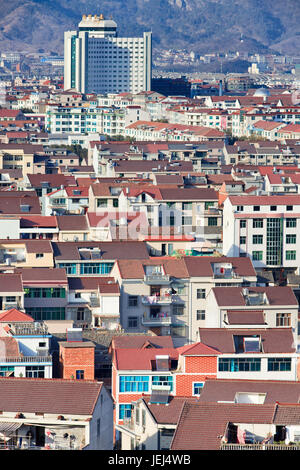
M 163 95 L 116 28 L 6 84 L 0 448 L 299 449 L 298 91 Z

